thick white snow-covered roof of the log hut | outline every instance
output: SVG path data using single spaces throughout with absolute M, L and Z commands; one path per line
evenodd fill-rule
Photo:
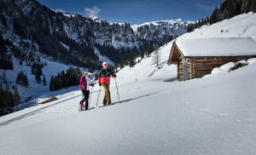
M 184 56 L 256 55 L 256 42 L 250 37 L 211 37 L 177 39 Z

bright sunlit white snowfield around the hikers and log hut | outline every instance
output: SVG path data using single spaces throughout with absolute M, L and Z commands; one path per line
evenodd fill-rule
M 177 39 L 255 40 L 255 26 L 256 14 L 241 14 Z M 224 35 L 221 29 L 229 32 Z M 256 154 L 255 60 L 236 71 L 177 82 L 177 66 L 166 64 L 171 47 L 172 42 L 160 48 L 160 68 L 145 58 L 118 72 L 124 101 L 114 106 L 78 112 L 81 93 L 73 87 L 60 100 L 1 117 L 0 154 Z M 110 90 L 117 102 L 113 79 Z M 96 84 L 91 107 L 98 92 Z

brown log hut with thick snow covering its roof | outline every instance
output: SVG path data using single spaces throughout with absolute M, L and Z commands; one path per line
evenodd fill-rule
M 168 65 L 177 64 L 177 79 L 201 78 L 228 62 L 256 57 L 256 42 L 249 37 L 179 39 L 172 44 Z

